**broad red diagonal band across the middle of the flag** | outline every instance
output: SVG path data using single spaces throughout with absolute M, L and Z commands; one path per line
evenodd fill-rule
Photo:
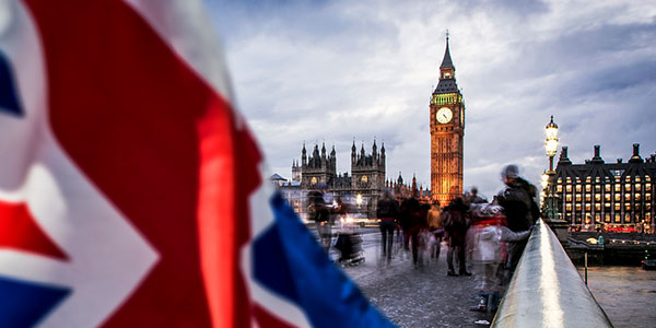
M 106 326 L 248 326 L 238 265 L 259 153 L 230 104 L 121 1 L 27 3 L 56 138 L 161 255 Z

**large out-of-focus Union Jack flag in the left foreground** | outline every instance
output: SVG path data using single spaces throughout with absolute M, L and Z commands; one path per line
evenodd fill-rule
M 387 327 L 262 180 L 198 1 L 0 1 L 0 327 Z

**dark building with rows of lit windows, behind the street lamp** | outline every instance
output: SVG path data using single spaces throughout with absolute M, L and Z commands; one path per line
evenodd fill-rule
M 591 160 L 572 164 L 563 147 L 555 168 L 559 218 L 576 231 L 654 233 L 656 155 L 643 159 L 633 144 L 628 162 L 606 163 L 595 145 Z

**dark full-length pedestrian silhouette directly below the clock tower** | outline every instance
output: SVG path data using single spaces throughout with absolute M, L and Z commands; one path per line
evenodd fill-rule
M 448 271 L 446 272 L 447 276 L 471 276 L 471 273 L 467 271 L 467 263 L 465 260 L 465 237 L 467 229 L 469 227 L 469 220 L 467 218 L 468 209 L 469 208 L 465 204 L 462 198 L 457 197 L 452 200 L 446 211 L 444 230 L 446 231 L 448 241 L 448 250 L 446 253 L 446 263 L 448 266 Z M 458 257 L 458 273 L 456 273 L 454 268 L 454 253 Z

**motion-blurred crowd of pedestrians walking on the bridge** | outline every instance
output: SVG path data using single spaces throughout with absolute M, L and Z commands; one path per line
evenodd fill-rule
M 412 266 L 419 269 L 424 266 L 424 255 L 440 258 L 445 242 L 446 274 L 476 279 L 478 300 L 470 309 L 495 312 L 540 216 L 536 187 L 518 173 L 516 165 L 502 169 L 504 189 L 491 202 L 480 197 L 476 187 L 444 207 L 438 200 L 421 203 L 417 190 L 401 200 L 385 190 L 376 210 L 383 259 L 389 263 L 396 251 L 411 253 Z M 308 202 L 320 243 L 329 251 L 332 222 L 348 215 L 347 204 L 339 198 L 326 200 L 320 191 L 308 194 Z M 340 229 L 333 245 L 341 253 L 340 263 L 364 261 L 361 241 L 358 233 Z

